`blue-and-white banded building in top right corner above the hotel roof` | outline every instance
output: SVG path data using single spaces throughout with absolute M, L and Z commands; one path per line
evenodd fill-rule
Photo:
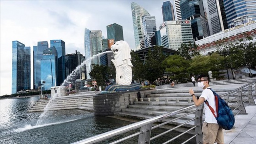
M 224 0 L 224 7 L 228 24 L 239 16 L 248 16 L 256 20 L 256 0 Z

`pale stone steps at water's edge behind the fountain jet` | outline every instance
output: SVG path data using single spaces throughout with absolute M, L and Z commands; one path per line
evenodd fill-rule
M 43 112 L 47 105 L 49 111 L 68 109 L 93 111 L 93 97 L 74 95 L 56 97 L 54 99 L 40 99 L 28 110 L 28 112 Z

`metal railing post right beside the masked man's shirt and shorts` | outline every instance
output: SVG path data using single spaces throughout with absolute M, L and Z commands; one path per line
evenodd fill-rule
M 203 126 L 203 105 L 197 107 L 197 112 L 195 113 L 195 134 L 198 133 L 196 136 L 197 144 L 203 144 L 203 133 L 202 133 L 202 126 Z

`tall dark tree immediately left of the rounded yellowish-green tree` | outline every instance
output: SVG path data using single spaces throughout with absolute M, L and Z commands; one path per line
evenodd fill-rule
M 145 61 L 144 74 L 145 79 L 151 80 L 153 83 L 154 80 L 162 77 L 165 72 L 165 67 L 162 65 L 162 62 L 165 59 L 165 55 L 162 52 L 162 46 L 155 46 L 152 49 L 149 49 L 147 54 L 147 59 Z

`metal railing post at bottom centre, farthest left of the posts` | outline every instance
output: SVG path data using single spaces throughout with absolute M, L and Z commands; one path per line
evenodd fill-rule
M 150 144 L 151 128 L 152 123 L 140 128 L 143 133 L 139 134 L 138 144 Z

